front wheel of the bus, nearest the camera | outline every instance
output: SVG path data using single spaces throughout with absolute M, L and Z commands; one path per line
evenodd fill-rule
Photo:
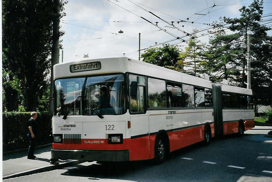
M 162 164 L 167 156 L 167 142 L 163 135 L 159 135 L 155 143 L 155 164 Z

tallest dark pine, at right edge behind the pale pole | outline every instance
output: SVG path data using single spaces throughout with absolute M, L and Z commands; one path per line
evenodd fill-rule
M 254 0 L 248 8 L 243 6 L 240 9 L 240 18 L 226 18 L 226 23 L 231 23 L 230 30 L 235 31 L 244 36 L 247 43 L 247 31 L 251 30 L 253 34 L 250 36 L 250 54 L 251 54 L 251 89 L 253 90 L 255 105 L 264 100 L 261 98 L 260 88 L 272 87 L 272 37 L 267 35 L 267 31 L 271 28 L 266 27 L 265 23 L 260 24 L 263 14 L 263 1 Z M 243 50 L 242 53 L 245 53 Z M 244 63 L 245 59 L 240 59 L 240 63 Z M 244 85 L 243 85 L 244 86 Z M 268 89 L 270 90 L 270 89 Z M 270 97 L 270 103 L 272 100 Z

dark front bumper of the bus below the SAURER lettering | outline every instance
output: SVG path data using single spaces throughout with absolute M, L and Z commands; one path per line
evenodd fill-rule
M 129 161 L 129 150 L 59 150 L 51 149 L 52 159 L 121 162 Z

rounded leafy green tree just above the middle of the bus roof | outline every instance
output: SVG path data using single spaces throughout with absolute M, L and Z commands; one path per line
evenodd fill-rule
M 184 63 L 179 59 L 180 50 L 178 46 L 169 46 L 162 48 L 151 48 L 143 53 L 141 57 L 144 62 L 166 67 L 175 71 L 182 71 Z

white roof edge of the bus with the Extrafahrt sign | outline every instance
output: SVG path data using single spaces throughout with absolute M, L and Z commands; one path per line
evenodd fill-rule
M 212 83 L 209 80 L 156 66 L 147 62 L 130 59 L 128 57 L 85 59 L 81 61 L 59 63 L 54 65 L 54 80 L 67 77 L 126 72 L 181 82 L 184 84 L 197 85 L 205 88 L 212 87 Z M 216 85 L 221 85 L 222 91 L 252 94 L 252 90 L 249 89 L 224 84 Z

